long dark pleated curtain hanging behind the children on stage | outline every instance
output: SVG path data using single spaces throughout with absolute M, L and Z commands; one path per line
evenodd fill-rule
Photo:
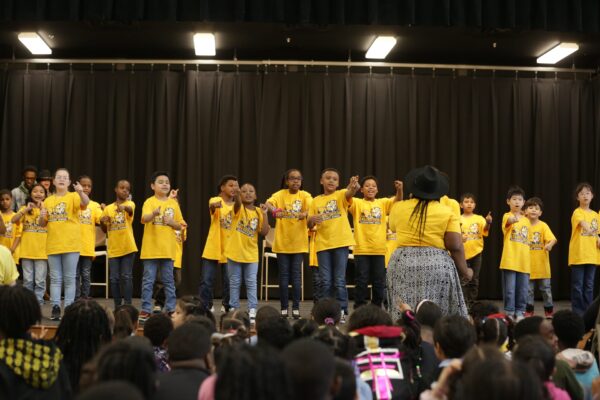
M 320 170 L 335 167 L 344 183 L 376 175 L 383 195 L 411 168 L 436 165 L 449 174 L 452 196 L 475 193 L 479 213 L 495 218 L 485 298 L 501 297 L 500 220 L 511 184 L 545 202 L 542 218 L 559 239 L 551 255 L 557 298 L 569 297 L 573 189 L 579 181 L 600 189 L 597 80 L 9 70 L 0 93 L 3 187 L 16 186 L 26 164 L 66 166 L 93 177 L 99 202 L 113 200 L 117 179 L 130 179 L 141 211 L 152 171 L 172 172 L 189 223 L 186 292 L 200 280 L 207 201 L 224 174 L 254 183 L 264 201 L 291 167 L 313 194 Z M 140 233 L 136 222 L 138 244 Z

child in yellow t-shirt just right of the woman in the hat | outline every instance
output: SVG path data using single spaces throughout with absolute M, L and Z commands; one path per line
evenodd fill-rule
M 479 271 L 481 270 L 481 253 L 483 238 L 487 237 L 492 225 L 492 214 L 488 212 L 485 218 L 474 213 L 476 207 L 475 195 L 465 193 L 460 198 L 460 229 L 462 230 L 463 245 L 467 267 L 473 270 L 473 278 L 469 282 L 461 282 L 465 303 L 470 310 L 477 300 L 479 293 Z

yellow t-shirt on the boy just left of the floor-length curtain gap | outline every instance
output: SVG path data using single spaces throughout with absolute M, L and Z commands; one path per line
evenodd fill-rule
M 182 223 L 181 209 L 179 203 L 173 199 L 159 200 L 156 196 L 152 196 L 144 202 L 142 216 L 152 214 L 158 207 L 160 207 L 160 214 L 154 217 L 152 221 L 144 224 L 140 259 L 170 258 L 175 260 L 177 255 L 175 235 L 173 234 L 173 228 L 163 222 L 163 217 L 170 216 L 175 222 Z

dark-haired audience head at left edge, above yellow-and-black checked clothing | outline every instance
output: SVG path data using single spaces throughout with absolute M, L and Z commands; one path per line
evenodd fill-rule
M 0 286 L 0 338 L 24 338 L 42 319 L 40 305 L 23 286 Z

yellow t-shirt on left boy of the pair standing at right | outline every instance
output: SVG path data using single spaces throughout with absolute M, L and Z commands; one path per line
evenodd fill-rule
M 521 215 L 521 218 L 516 223 L 506 227 L 506 221 L 512 216 L 511 212 L 507 212 L 502 217 L 504 246 L 502 247 L 500 269 L 529 274 L 531 272 L 531 256 L 529 254 L 531 224 L 524 215 Z

